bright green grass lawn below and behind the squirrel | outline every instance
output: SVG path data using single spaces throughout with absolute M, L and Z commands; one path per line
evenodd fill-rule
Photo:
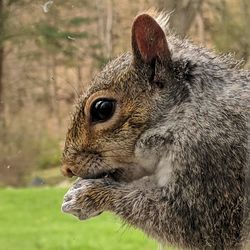
M 104 213 L 87 221 L 62 214 L 65 189 L 0 190 L 0 249 L 155 250 L 156 242 Z

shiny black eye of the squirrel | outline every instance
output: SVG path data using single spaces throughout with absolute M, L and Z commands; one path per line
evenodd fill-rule
M 105 122 L 115 112 L 116 102 L 110 99 L 98 99 L 96 100 L 90 110 L 92 122 Z

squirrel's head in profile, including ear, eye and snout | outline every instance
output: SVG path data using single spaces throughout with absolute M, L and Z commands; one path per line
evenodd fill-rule
M 174 68 L 164 31 L 150 15 L 139 15 L 132 26 L 132 53 L 110 62 L 78 100 L 63 174 L 118 181 L 150 174 L 137 159 L 136 145 L 166 105 L 174 105 L 173 96 L 180 98 Z

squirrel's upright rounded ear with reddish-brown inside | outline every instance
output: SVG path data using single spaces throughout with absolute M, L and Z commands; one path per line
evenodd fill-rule
M 171 61 L 164 31 L 153 17 L 141 14 L 136 17 L 132 26 L 132 50 L 137 63 L 151 64 Z

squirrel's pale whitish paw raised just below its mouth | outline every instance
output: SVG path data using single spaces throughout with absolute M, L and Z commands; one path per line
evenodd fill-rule
M 64 196 L 62 212 L 72 214 L 79 220 L 99 215 L 102 211 L 93 197 L 93 191 L 98 184 L 98 181 L 95 182 L 96 180 L 78 179 Z

